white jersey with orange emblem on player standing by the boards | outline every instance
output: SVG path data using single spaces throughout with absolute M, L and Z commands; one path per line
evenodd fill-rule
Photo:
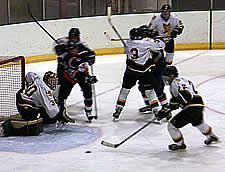
M 171 31 L 180 24 L 182 23 L 175 14 L 170 14 L 167 21 L 161 17 L 161 14 L 158 14 L 152 17 L 149 27 L 157 30 L 159 35 L 170 35 Z

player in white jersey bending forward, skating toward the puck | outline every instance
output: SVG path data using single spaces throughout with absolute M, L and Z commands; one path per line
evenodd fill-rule
M 219 141 L 218 137 L 213 134 L 212 128 L 204 121 L 204 103 L 202 97 L 195 90 L 193 83 L 178 76 L 178 70 L 175 66 L 168 66 L 163 75 L 170 85 L 172 98 L 168 108 L 160 110 L 156 117 L 161 120 L 172 110 L 179 107 L 182 109 L 168 122 L 169 134 L 176 143 L 169 145 L 169 149 L 186 149 L 180 128 L 189 123 L 206 136 L 207 139 L 204 141 L 206 145 Z

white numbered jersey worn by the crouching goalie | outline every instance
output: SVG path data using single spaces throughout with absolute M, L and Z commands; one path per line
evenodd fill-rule
M 24 102 L 24 105 L 20 104 L 20 106 L 43 107 L 51 118 L 56 116 L 59 112 L 58 105 L 54 100 L 51 89 L 40 76 L 34 72 L 28 72 L 26 82 L 26 88 L 19 93 L 20 99 Z

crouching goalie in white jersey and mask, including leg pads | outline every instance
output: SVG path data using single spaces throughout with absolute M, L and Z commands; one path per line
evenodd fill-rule
M 53 91 L 57 75 L 46 72 L 43 80 L 28 72 L 25 89 L 16 94 L 16 105 L 22 119 L 8 119 L 0 124 L 0 136 L 34 136 L 43 131 L 43 124 L 74 123 L 67 113 L 59 111 Z

